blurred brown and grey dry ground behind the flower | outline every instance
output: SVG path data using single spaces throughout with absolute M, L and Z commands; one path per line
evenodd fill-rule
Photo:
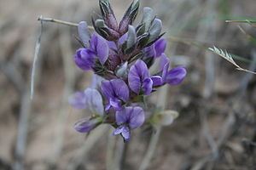
M 142 0 L 163 21 L 172 65 L 185 65 L 181 86 L 166 88 L 166 109 L 179 112 L 163 127 L 148 169 L 256 169 L 256 78 L 236 71 L 207 50 L 213 45 L 236 54 L 255 71 L 255 26 L 225 20 L 256 17 L 255 0 Z M 79 43 L 75 27 L 44 22 L 35 75 L 30 81 L 41 14 L 78 23 L 99 14 L 94 0 L 0 1 L 0 169 L 88 169 L 109 167 L 111 146 L 119 140 L 108 126 L 89 136 L 73 130 L 89 116 L 67 103 L 90 84 L 90 72 L 73 63 Z M 131 0 L 112 0 L 120 20 Z M 136 23 L 140 20 L 138 14 Z M 255 19 L 255 18 L 254 18 Z M 240 56 L 240 57 L 239 57 Z M 160 95 L 160 94 L 159 94 Z M 151 102 L 158 100 L 157 95 Z M 138 169 L 150 133 L 137 130 L 122 169 Z M 110 168 L 111 169 L 111 168 Z

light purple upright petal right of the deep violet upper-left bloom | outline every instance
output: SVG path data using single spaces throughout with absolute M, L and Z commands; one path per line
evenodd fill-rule
M 108 59 L 108 41 L 98 34 L 93 34 L 90 40 L 90 49 L 96 53 L 102 65 Z

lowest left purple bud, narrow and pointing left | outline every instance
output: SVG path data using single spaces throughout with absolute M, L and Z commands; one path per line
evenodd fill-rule
M 100 124 L 100 122 L 101 121 L 97 118 L 91 120 L 83 119 L 75 123 L 74 129 L 79 133 L 88 133 L 90 132 L 90 130 L 97 127 Z

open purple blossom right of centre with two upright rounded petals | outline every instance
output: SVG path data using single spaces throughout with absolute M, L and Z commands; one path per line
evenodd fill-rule
M 140 94 L 150 94 L 152 91 L 153 82 L 149 77 L 149 71 L 147 65 L 143 60 L 138 59 L 137 62 L 131 66 L 128 74 L 128 82 L 131 90 Z

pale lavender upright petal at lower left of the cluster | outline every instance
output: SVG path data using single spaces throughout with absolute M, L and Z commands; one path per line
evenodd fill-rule
M 87 88 L 84 91 L 84 94 L 86 99 L 86 108 L 94 114 L 103 115 L 104 106 L 102 103 L 102 95 L 93 88 Z

